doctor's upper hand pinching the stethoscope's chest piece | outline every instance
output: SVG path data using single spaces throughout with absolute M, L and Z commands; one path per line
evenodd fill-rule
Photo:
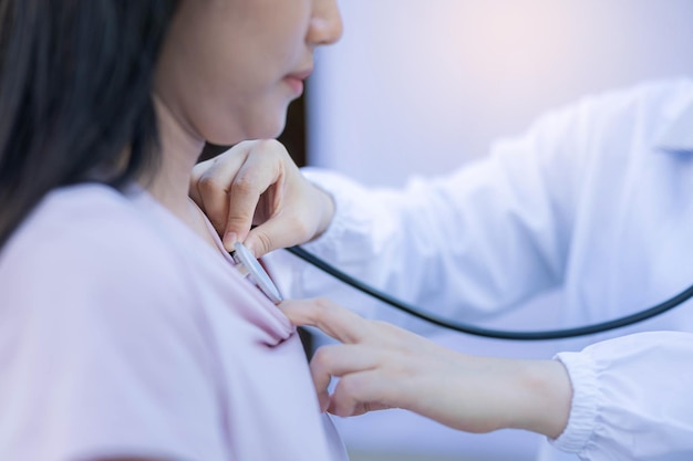
M 314 239 L 334 213 L 331 197 L 273 139 L 239 143 L 196 165 L 189 193 L 227 250 L 241 241 L 257 258 Z

